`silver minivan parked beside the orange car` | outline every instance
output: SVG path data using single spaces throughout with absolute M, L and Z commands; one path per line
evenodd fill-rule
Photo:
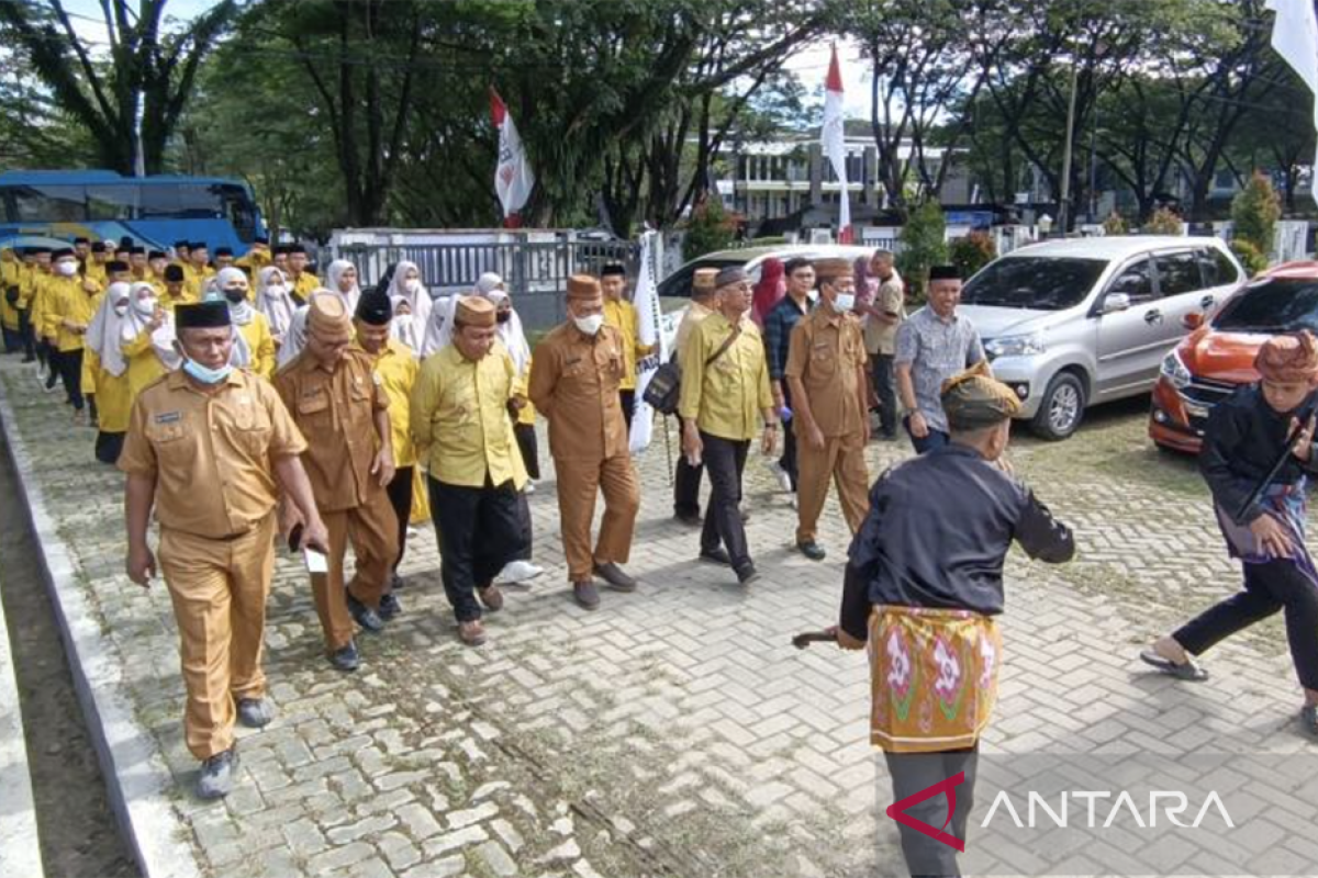
M 1046 241 L 981 269 L 958 313 L 979 330 L 994 375 L 1021 399 L 1020 417 L 1061 440 L 1086 407 L 1149 392 L 1188 317 L 1244 280 L 1219 238 Z

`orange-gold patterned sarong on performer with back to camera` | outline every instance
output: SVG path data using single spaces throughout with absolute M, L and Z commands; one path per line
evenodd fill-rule
M 875 607 L 870 741 L 892 753 L 973 746 L 998 700 L 1002 637 L 969 609 Z

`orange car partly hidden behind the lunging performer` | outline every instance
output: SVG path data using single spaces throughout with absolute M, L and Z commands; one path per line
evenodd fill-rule
M 1202 324 L 1202 325 L 1201 325 Z M 1256 276 L 1162 359 L 1153 387 L 1149 437 L 1159 448 L 1197 454 L 1213 407 L 1259 380 L 1253 358 L 1269 336 L 1318 333 L 1318 262 L 1288 262 Z

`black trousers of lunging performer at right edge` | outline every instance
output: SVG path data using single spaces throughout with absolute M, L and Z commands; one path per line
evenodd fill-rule
M 1318 690 L 1318 588 L 1293 561 L 1244 565 L 1244 591 L 1190 620 L 1172 637 L 1199 656 L 1277 611 L 1285 612 L 1286 641 L 1300 684 Z

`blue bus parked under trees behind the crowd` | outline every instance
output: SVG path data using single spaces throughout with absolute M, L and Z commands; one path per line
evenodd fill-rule
M 265 236 L 252 190 L 211 176 L 120 176 L 115 171 L 0 174 L 0 244 L 21 234 L 117 241 L 163 250 L 206 241 L 246 253 Z

